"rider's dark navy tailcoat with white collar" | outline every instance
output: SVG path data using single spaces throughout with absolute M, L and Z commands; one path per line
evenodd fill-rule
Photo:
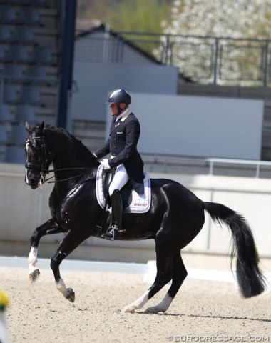
M 139 136 L 140 124 L 133 113 L 128 112 L 118 121 L 113 118 L 108 141 L 95 154 L 101 159 L 110 153 L 111 168 L 123 163 L 133 188 L 138 194 L 144 194 L 143 161 L 137 149 Z

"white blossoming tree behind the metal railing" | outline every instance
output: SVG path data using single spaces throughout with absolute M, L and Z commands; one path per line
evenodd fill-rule
M 164 34 L 182 36 L 163 37 L 156 53 L 167 51 L 167 63 L 178 65 L 183 73 L 212 79 L 217 63 L 220 84 L 232 79 L 262 81 L 271 49 L 262 41 L 271 39 L 271 0 L 175 0 L 170 23 L 162 25 Z

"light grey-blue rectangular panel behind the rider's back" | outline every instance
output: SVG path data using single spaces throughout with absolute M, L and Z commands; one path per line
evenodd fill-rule
M 260 160 L 264 101 L 131 93 L 145 154 Z M 108 111 L 106 137 L 111 125 Z

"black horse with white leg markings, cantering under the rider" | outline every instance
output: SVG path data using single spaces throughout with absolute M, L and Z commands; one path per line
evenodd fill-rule
M 53 164 L 55 185 L 49 199 L 51 219 L 36 228 L 31 236 L 29 277 L 39 277 L 35 267 L 39 240 L 47 234 L 66 233 L 51 258 L 51 269 L 57 289 L 74 302 L 73 289 L 66 288 L 59 265 L 68 254 L 90 236 L 101 237 L 97 223 L 103 209 L 96 200 L 96 174 L 99 162 L 81 141 L 65 129 L 53 126 L 30 127 L 25 143 L 26 184 L 36 189 L 44 183 L 50 164 Z M 180 250 L 189 244 L 202 229 L 209 212 L 213 220 L 224 222 L 232 232 L 232 257 L 237 257 L 237 283 L 240 294 L 253 297 L 265 290 L 265 281 L 258 268 L 258 257 L 250 227 L 237 212 L 222 204 L 202 202 L 188 189 L 170 179 L 151 179 L 151 205 L 145 214 L 123 214 L 121 239 L 154 239 L 157 275 L 153 285 L 123 312 L 135 312 L 148 299 L 171 282 L 165 298 L 147 312 L 165 312 L 187 276 Z M 107 219 L 108 220 L 108 219 Z M 108 224 L 108 223 L 107 223 Z

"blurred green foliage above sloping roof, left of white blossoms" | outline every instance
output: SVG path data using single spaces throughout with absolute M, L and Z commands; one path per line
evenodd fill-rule
M 99 19 L 113 31 L 142 34 L 122 34 L 148 54 L 160 44 L 163 28 L 160 22 L 170 19 L 173 0 L 78 0 L 77 17 Z M 157 35 L 150 35 L 157 34 Z

